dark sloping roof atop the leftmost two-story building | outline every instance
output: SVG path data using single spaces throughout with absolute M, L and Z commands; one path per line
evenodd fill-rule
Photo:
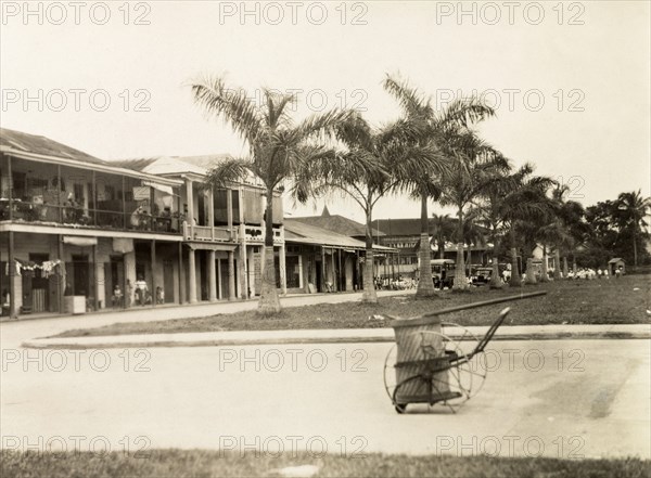
M 54 156 L 63 159 L 75 159 L 93 165 L 110 166 L 107 162 L 91 156 L 82 151 L 66 146 L 46 137 L 28 134 L 13 129 L 0 128 L 0 146 L 16 152 Z

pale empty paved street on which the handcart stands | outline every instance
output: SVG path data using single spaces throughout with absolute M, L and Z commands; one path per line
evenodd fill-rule
M 405 415 L 383 386 L 390 344 L 4 349 L 2 445 L 650 457 L 648 340 L 492 346 L 457 414 Z

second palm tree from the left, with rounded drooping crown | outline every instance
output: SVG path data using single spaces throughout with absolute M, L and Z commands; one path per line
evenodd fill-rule
M 406 120 L 374 129 L 361 115 L 354 114 L 339 125 L 335 134 L 346 151 L 326 162 L 307 165 L 304 180 L 295 188 L 303 196 L 339 190 L 361 207 L 366 217 L 362 301 L 376 302 L 373 207 L 381 197 L 397 191 L 406 178 L 422 176 L 435 168 L 437 151 L 430 144 L 419 144 L 416 141 L 420 134 L 418 126 Z

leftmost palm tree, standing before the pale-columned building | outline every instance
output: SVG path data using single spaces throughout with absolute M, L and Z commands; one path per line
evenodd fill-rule
M 224 119 L 248 146 L 248 158 L 234 158 L 213 168 L 205 180 L 206 186 L 224 188 L 242 181 L 250 171 L 265 185 L 265 264 L 258 312 L 264 315 L 277 313 L 280 300 L 273 261 L 273 193 L 305 164 L 334 155 L 332 150 L 315 140 L 328 135 L 348 113 L 333 111 L 294 124 L 288 111 L 295 103 L 295 95 L 264 89 L 264 102 L 257 105 L 244 90 L 227 88 L 220 77 L 207 77 L 192 83 L 192 93 L 208 115 Z

